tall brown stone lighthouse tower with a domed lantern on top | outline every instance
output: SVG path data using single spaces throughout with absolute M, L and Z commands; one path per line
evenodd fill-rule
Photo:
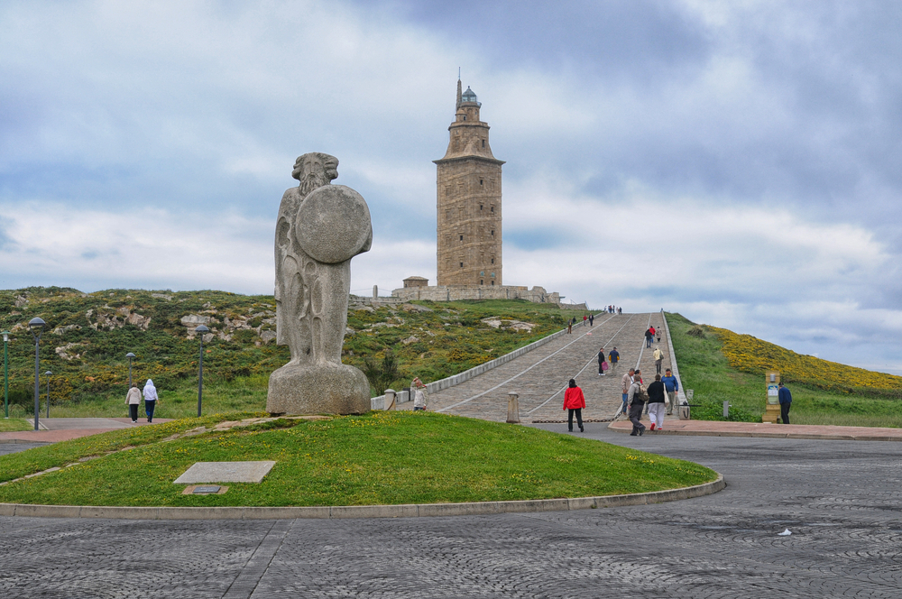
M 492 156 L 482 106 L 457 80 L 455 120 L 437 165 L 438 281 L 502 285 L 502 164 Z

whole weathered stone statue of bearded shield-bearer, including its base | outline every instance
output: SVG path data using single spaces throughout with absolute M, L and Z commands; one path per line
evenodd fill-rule
M 291 361 L 270 376 L 266 410 L 290 414 L 360 414 L 370 409 L 370 383 L 341 363 L 351 290 L 351 258 L 373 242 L 364 198 L 338 177 L 338 159 L 300 156 L 300 181 L 282 196 L 276 223 L 276 343 Z

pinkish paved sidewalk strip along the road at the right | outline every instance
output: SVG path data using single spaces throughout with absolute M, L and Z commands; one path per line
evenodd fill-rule
M 643 421 L 647 427 L 649 423 Z M 632 424 L 617 420 L 608 429 L 629 433 Z M 650 427 L 649 427 L 650 429 Z M 700 437 L 768 437 L 835 439 L 842 441 L 902 441 L 902 429 L 838 427 L 815 424 L 770 424 L 769 422 L 719 422 L 715 420 L 667 420 L 664 430 L 646 429 L 646 435 L 695 435 Z

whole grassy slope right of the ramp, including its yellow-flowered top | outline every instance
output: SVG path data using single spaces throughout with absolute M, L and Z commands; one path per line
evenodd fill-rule
M 683 384 L 704 406 L 694 419 L 723 419 L 723 401 L 730 401 L 731 419 L 760 422 L 764 375 L 777 370 L 793 394 L 794 424 L 902 427 L 902 376 L 796 354 L 679 314 L 668 314 L 667 323 Z

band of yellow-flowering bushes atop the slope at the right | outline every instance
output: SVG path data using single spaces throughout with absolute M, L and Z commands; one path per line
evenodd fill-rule
M 821 389 L 851 392 L 853 389 L 902 390 L 902 376 L 875 373 L 863 368 L 829 362 L 813 355 L 796 354 L 750 335 L 725 328 L 706 327 L 723 343 L 730 365 L 744 373 L 779 371 L 783 381 L 805 382 Z

